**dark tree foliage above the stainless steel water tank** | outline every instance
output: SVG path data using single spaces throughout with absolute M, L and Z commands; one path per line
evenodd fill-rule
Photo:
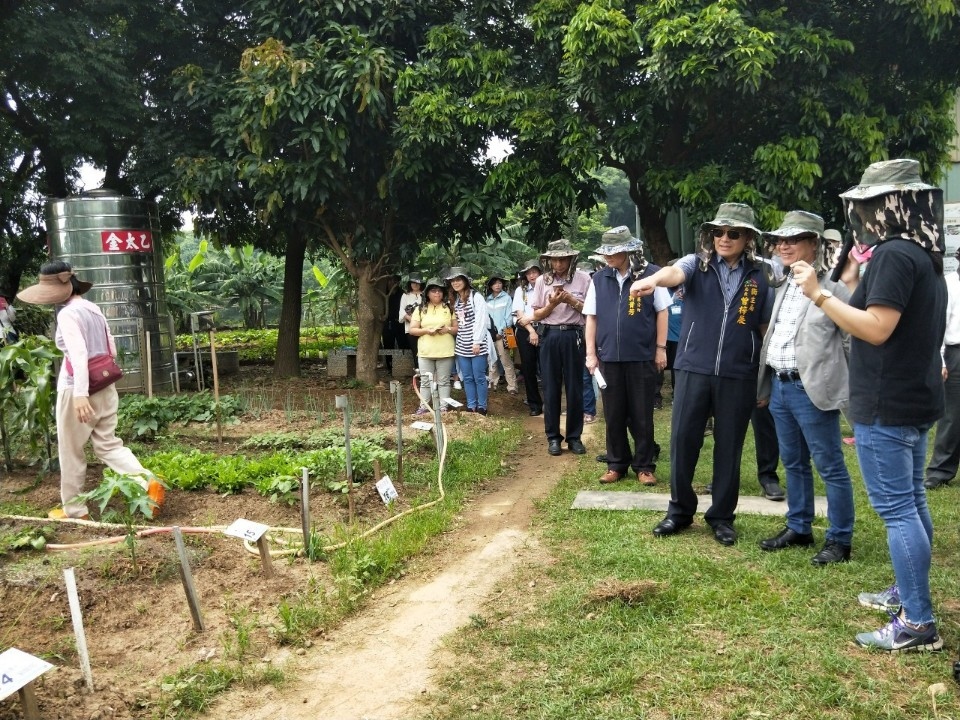
M 107 187 L 161 205 L 173 150 L 191 138 L 172 102 L 173 70 L 214 65 L 237 40 L 228 0 L 19 0 L 0 4 L 0 263 L 15 291 L 45 251 L 38 198 L 66 197 L 81 165 Z M 239 49 L 233 51 L 239 57 Z

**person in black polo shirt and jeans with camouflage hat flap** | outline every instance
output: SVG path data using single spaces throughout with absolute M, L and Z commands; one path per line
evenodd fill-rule
M 927 433 L 944 412 L 943 191 L 920 179 L 916 160 L 897 159 L 870 165 L 840 197 L 853 244 L 871 250 L 862 277 L 852 253 L 843 259 L 849 304 L 813 265 L 792 270 L 807 299 L 852 337 L 848 417 L 870 504 L 887 529 L 895 583 L 857 599 L 889 612 L 889 622 L 856 641 L 888 652 L 939 650 L 923 471 Z

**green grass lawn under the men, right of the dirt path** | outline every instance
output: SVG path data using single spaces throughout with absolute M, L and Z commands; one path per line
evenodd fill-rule
M 669 492 L 669 408 L 657 412 L 657 425 L 664 457 L 661 481 L 651 490 Z M 603 437 L 602 427 L 595 437 Z M 700 484 L 708 482 L 711 449 L 706 438 Z M 548 557 L 524 567 L 482 617 L 451 640 L 453 669 L 421 716 L 960 717 L 951 679 L 960 647 L 960 489 L 931 493 L 930 503 L 936 527 L 931 581 L 944 651 L 868 652 L 854 635 L 879 627 L 886 616 L 860 607 L 857 594 L 889 585 L 892 570 L 855 450 L 844 446 L 844 453 L 856 496 L 853 560 L 826 568 L 809 562 L 822 545 L 825 518 L 815 523 L 817 547 L 767 553 L 757 542 L 783 527 L 781 517 L 739 516 L 740 541 L 725 548 L 702 516 L 691 530 L 657 539 L 650 531 L 660 513 L 570 510 L 578 490 L 601 487 L 592 454 L 572 461 L 543 503 L 536 528 Z M 633 478 L 615 488 L 640 486 Z M 742 492 L 759 491 L 749 433 Z M 702 497 L 700 510 L 708 504 Z M 633 602 L 595 599 L 609 579 L 650 586 Z

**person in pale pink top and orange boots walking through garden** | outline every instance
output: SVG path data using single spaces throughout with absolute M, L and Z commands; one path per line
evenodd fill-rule
M 23 302 L 56 307 L 54 341 L 64 354 L 57 378 L 57 456 L 63 506 L 48 515 L 54 520 L 89 515 L 87 506 L 77 496 L 86 484 L 84 448 L 90 441 L 94 454 L 107 467 L 118 475 L 134 478 L 143 487 L 151 501 L 151 515 L 155 516 L 163 504 L 166 488 L 117 437 L 120 396 L 116 385 L 90 394 L 88 360 L 99 355 L 117 356 L 103 312 L 83 297 L 91 287 L 93 283 L 80 280 L 69 263 L 54 260 L 40 268 L 36 285 L 17 293 Z

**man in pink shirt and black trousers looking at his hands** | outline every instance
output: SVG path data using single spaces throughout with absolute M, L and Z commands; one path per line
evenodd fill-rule
M 533 289 L 533 320 L 540 323 L 540 373 L 543 376 L 543 425 L 547 452 L 559 455 L 560 396 L 567 398 L 566 441 L 570 452 L 583 455 L 583 301 L 590 276 L 577 270 L 576 250 L 569 240 L 554 240 L 540 256 L 549 270 L 537 278 Z

